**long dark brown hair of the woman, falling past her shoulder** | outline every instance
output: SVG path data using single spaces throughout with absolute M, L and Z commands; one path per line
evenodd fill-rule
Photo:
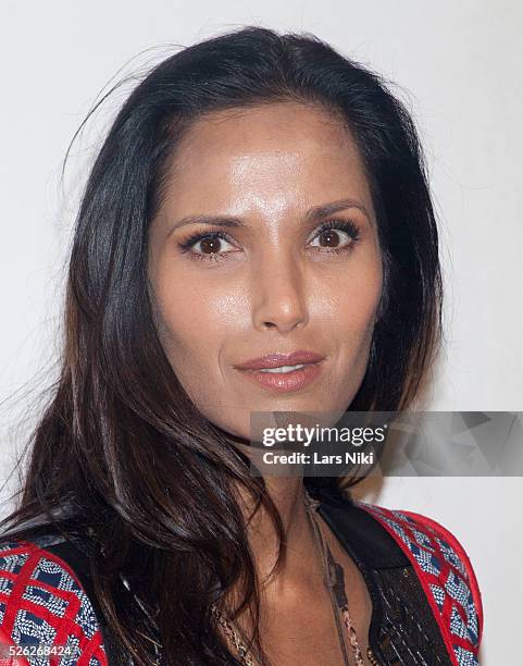
M 350 410 L 404 409 L 440 341 L 438 236 L 415 126 L 384 79 L 311 35 L 245 27 L 185 48 L 130 94 L 98 153 L 77 215 L 61 375 L 33 437 L 17 509 L 90 544 L 99 605 L 122 651 L 170 665 L 240 664 L 210 610 L 236 582 L 259 645 L 259 588 L 233 486 L 283 523 L 235 439 L 196 409 L 160 344 L 147 289 L 148 224 L 167 162 L 201 114 L 294 100 L 337 114 L 361 151 L 377 211 L 384 291 Z M 353 480 L 308 478 L 316 496 Z M 60 513 L 67 506 L 66 513 Z M 282 544 L 277 566 L 285 557 Z M 115 574 L 140 601 L 123 603 Z M 233 613 L 233 616 L 235 614 Z M 137 628 L 140 627 L 140 631 Z

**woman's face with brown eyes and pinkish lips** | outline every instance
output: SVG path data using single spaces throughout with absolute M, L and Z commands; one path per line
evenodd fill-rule
M 345 410 L 383 274 L 340 121 L 294 102 L 197 121 L 151 224 L 149 280 L 165 353 L 210 421 L 249 439 L 251 411 Z

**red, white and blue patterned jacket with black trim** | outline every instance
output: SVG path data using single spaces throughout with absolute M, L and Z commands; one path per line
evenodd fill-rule
M 324 503 L 320 513 L 364 572 L 374 590 L 373 604 L 382 607 L 379 620 L 373 620 L 381 626 L 371 624 L 370 634 L 371 657 L 376 664 L 478 664 L 481 593 L 469 557 L 447 529 L 411 511 L 361 502 L 350 501 L 344 506 Z M 0 543 L 0 666 L 111 664 L 104 644 L 107 628 L 95 610 L 96 600 L 86 592 L 86 579 L 52 552 L 53 543 L 52 538 L 47 546 L 46 538 L 38 543 Z M 395 603 L 403 616 L 413 613 L 401 578 L 396 575 L 403 572 L 408 578 L 409 571 L 423 590 L 428 624 L 439 632 L 434 641 L 434 627 L 418 618 L 420 631 L 431 640 L 432 646 L 426 650 L 438 654 L 426 652 L 412 662 L 408 655 L 415 651 L 423 654 L 421 643 L 415 643 L 422 639 L 416 637 L 414 641 L 407 629 L 400 631 L 387 620 L 387 610 L 391 616 Z M 400 582 L 390 582 L 397 580 Z M 399 656 L 402 661 L 389 662 L 385 643 L 395 655 L 403 650 L 404 656 Z

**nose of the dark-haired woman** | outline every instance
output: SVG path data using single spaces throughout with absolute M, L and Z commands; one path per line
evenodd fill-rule
M 257 330 L 288 333 L 309 319 L 307 284 L 299 261 L 289 252 L 260 257 L 252 268 L 252 322 Z

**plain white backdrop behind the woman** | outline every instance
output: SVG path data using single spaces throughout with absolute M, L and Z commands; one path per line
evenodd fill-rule
M 53 377 L 78 186 L 129 87 L 67 145 L 123 74 L 246 24 L 311 32 L 396 81 L 425 146 L 441 227 L 446 354 L 429 408 L 522 410 L 522 35 L 515 1 L 2 2 L 0 482 Z M 16 392 L 16 393 L 15 393 Z M 13 396 L 14 393 L 14 396 Z M 20 418 L 22 425 L 14 428 Z M 15 446 L 16 443 L 16 446 Z M 482 664 L 514 663 L 523 617 L 522 479 L 391 479 L 366 498 L 426 514 L 468 551 L 485 606 Z M 15 488 L 15 480 L 3 489 Z M 7 513 L 9 504 L 0 507 Z

